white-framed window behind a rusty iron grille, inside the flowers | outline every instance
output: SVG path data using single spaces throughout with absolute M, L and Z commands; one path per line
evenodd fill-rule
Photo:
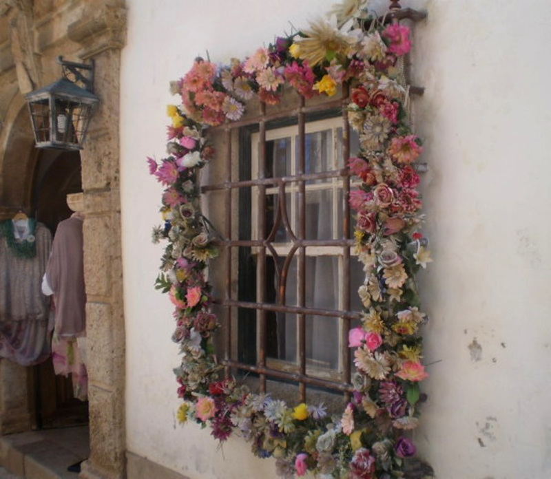
M 340 109 L 311 110 L 219 131 L 226 172 L 203 186 L 209 217 L 225 224 L 225 272 L 211 273 L 227 325 L 222 360 L 232 374 L 258 374 L 261 390 L 298 383 L 300 400 L 310 386 L 350 389 L 348 331 L 364 279 L 344 168 L 357 137 L 346 140 Z

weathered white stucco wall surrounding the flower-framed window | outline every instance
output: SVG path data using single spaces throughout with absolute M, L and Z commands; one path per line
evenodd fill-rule
M 272 460 L 176 424 L 178 365 L 167 297 L 153 288 L 168 83 L 195 56 L 225 62 L 298 27 L 333 0 L 127 0 L 121 194 L 127 331 L 127 449 L 191 479 L 275 477 Z M 426 327 L 422 453 L 446 479 L 551 477 L 551 4 L 402 1 L 417 25 L 415 101 L 435 262 L 421 275 Z

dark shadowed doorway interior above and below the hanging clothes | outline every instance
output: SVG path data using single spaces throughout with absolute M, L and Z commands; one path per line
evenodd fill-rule
M 67 194 L 82 191 L 78 151 L 43 150 L 34 171 L 33 212 L 55 235 L 59 222 L 70 217 Z M 56 376 L 52 359 L 33 368 L 34 427 L 48 429 L 87 424 L 88 403 L 73 395 L 71 378 Z

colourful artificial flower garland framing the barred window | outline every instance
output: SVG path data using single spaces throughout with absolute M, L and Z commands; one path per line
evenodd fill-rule
M 148 158 L 150 173 L 165 186 L 165 224 L 154 229 L 154 241 L 168 241 L 156 287 L 175 306 L 173 339 L 183 354 L 175 370 L 183 400 L 178 421 L 208 425 L 220 441 L 242 436 L 257 456 L 274 456 L 285 478 L 306 471 L 319 478 L 402 478 L 416 454 L 407 432 L 419 423 L 419 381 L 428 374 L 419 336 L 426 315 L 414 276 L 432 260 L 419 231 L 422 146 L 408 123 L 400 67 L 409 35 L 408 27 L 368 14 L 366 0 L 346 0 L 328 20 L 278 38 L 245 61 L 233 58 L 220 67 L 198 58 L 171 83 L 182 104 L 167 109 L 168 156 L 159 164 Z M 197 179 L 215 156 L 209 127 L 239 120 L 253 96 L 277 105 L 285 85 L 313 98 L 333 96 L 345 82 L 351 85 L 349 122 L 360 134 L 349 168 L 362 183 L 350 203 L 366 277 L 358 290 L 362 326 L 349 332 L 357 368 L 353 395 L 342 414 L 330 416 L 323 405 L 287 405 L 222 379 L 212 341 L 220 325 L 205 281 L 217 249 L 201 214 Z M 428 465 L 424 470 L 430 476 Z

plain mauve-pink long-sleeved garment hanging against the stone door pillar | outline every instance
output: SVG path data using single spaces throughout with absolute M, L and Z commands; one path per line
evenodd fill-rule
M 76 216 L 59 223 L 46 268 L 56 303 L 55 330 L 60 338 L 83 336 L 86 330 L 82 226 L 83 220 Z

